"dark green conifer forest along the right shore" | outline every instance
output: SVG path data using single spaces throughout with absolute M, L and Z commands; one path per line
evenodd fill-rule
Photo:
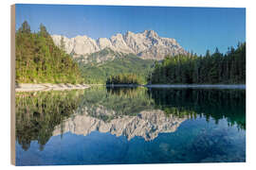
M 246 84 L 246 42 L 226 54 L 167 56 L 148 78 L 152 84 Z

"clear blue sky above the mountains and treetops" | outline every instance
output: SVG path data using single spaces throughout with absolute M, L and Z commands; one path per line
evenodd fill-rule
M 25 20 L 32 31 L 42 23 L 50 34 L 69 38 L 110 38 L 128 30 L 152 29 L 197 54 L 216 47 L 224 53 L 246 41 L 246 8 L 16 5 L 16 29 Z

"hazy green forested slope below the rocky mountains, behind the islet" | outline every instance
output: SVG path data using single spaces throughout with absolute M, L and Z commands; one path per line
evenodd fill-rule
M 103 60 L 108 58 L 108 60 Z M 114 52 L 110 49 L 101 50 L 94 53 L 88 58 L 88 63 L 77 59 L 82 69 L 82 76 L 86 83 L 89 84 L 105 84 L 107 78 L 111 76 L 133 74 L 137 75 L 139 83 L 146 83 L 147 76 L 153 70 L 153 60 L 139 59 L 133 54 L 124 55 Z M 100 62 L 96 62 L 98 59 Z

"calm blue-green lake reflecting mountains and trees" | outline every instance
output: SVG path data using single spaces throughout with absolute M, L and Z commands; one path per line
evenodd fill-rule
M 246 161 L 246 90 L 16 93 L 16 164 Z

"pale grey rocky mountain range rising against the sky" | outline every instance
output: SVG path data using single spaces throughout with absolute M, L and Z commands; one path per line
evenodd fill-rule
M 86 35 L 67 38 L 61 35 L 52 35 L 57 46 L 64 43 L 64 51 L 74 58 L 86 58 L 106 48 L 121 54 L 134 54 L 141 59 L 161 60 L 165 56 L 187 54 L 187 51 L 174 39 L 162 38 L 154 30 L 145 30 L 140 33 L 127 31 L 125 34 L 116 34 L 110 39 L 94 40 Z M 101 60 L 100 60 L 101 61 Z

